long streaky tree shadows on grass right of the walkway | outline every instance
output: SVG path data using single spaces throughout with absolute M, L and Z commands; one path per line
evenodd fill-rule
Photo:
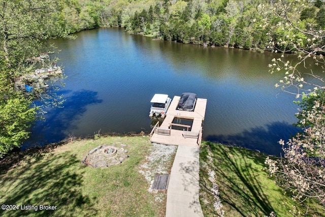
M 213 153 L 212 161 L 209 160 L 208 149 Z M 264 216 L 274 211 L 268 196 L 264 194 L 261 181 L 258 180 L 258 174 L 261 170 L 252 167 L 247 159 L 241 158 L 237 150 L 232 147 L 218 146 L 211 142 L 201 148 L 201 160 L 206 162 L 208 166 L 216 173 L 218 180 L 220 199 L 222 204 L 229 204 L 232 215 L 237 212 L 242 216 Z M 254 154 L 254 152 L 242 149 L 245 157 L 252 160 L 257 165 L 264 165 L 265 158 Z M 217 166 L 215 166 L 217 165 Z M 244 165 L 244 166 L 243 166 Z M 202 177 L 203 176 L 203 177 Z M 201 169 L 200 186 L 201 191 L 210 194 L 211 187 L 205 180 L 208 180 L 209 174 L 205 168 Z M 205 214 L 217 215 L 212 208 L 206 208 Z M 230 210 L 225 210 L 230 214 Z M 208 213 L 207 213 L 208 212 Z M 227 215 L 228 215 L 227 214 Z

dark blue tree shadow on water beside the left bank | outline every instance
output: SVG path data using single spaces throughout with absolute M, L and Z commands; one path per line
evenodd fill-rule
M 69 95 L 69 91 L 58 94 Z M 63 103 L 63 108 L 54 108 L 46 113 L 45 120 L 38 120 L 31 128 L 31 135 L 21 147 L 24 150 L 31 146 L 44 145 L 58 142 L 69 136 L 67 130 L 76 129 L 73 122 L 78 120 L 87 111 L 87 106 L 102 103 L 98 99 L 98 93 L 92 90 L 79 90 L 67 96 Z

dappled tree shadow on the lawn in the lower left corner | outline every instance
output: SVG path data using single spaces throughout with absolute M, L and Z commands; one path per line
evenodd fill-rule
M 30 150 L 31 151 L 31 150 Z M 83 170 L 74 154 L 51 153 L 51 147 L 34 149 L 7 160 L 1 170 L 1 204 L 19 205 L 18 210 L 0 210 L 6 216 L 84 216 L 97 213 L 96 198 L 82 195 Z M 3 160 L 4 161 L 4 160 Z M 20 205 L 51 205 L 56 210 L 22 210 Z M 80 214 L 79 214 L 80 215 Z

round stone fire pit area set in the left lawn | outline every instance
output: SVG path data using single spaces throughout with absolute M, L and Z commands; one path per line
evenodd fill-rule
M 115 144 L 100 145 L 87 154 L 82 163 L 91 167 L 109 167 L 121 164 L 128 158 L 128 152 L 125 144 L 120 144 L 121 147 L 115 147 Z

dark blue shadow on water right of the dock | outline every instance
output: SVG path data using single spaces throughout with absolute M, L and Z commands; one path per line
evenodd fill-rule
M 287 141 L 300 131 L 286 122 L 273 122 L 264 127 L 255 127 L 236 135 L 208 135 L 205 140 L 241 146 L 252 150 L 259 150 L 267 154 L 279 156 L 282 152 L 280 139 Z

